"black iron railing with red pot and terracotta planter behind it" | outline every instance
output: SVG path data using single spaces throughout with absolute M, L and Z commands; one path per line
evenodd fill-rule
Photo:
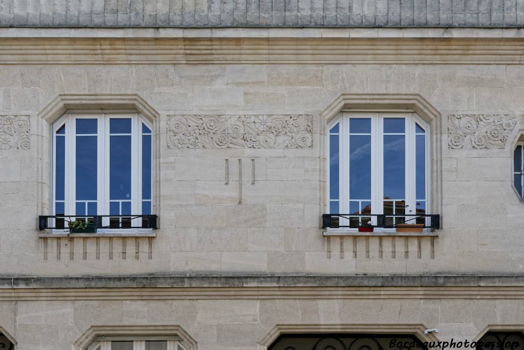
M 372 222 L 372 217 L 376 217 L 376 224 Z M 429 219 L 428 219 L 429 218 Z M 346 225 L 341 225 L 344 223 Z M 429 223 L 429 225 L 428 225 Z M 419 224 L 422 228 L 440 228 L 439 214 L 323 214 L 323 228 L 396 228 L 399 224 Z

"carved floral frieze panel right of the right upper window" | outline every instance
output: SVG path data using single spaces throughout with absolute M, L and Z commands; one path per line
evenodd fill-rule
M 505 148 L 517 123 L 514 114 L 451 114 L 447 116 L 447 146 L 450 149 Z

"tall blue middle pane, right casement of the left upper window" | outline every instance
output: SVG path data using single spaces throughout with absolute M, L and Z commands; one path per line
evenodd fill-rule
M 131 136 L 110 136 L 110 199 L 131 199 Z

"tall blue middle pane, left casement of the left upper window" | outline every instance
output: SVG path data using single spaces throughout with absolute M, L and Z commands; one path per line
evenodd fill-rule
M 96 136 L 77 136 L 77 200 L 96 200 Z

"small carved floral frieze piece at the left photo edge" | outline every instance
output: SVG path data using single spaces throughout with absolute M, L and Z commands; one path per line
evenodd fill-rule
M 29 149 L 28 115 L 0 115 L 0 149 Z

